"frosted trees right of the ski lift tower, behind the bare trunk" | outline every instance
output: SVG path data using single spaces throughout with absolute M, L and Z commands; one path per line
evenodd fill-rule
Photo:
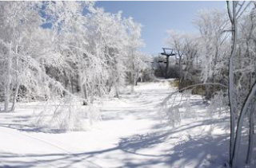
M 249 10 L 249 8 L 247 9 Z M 255 11 L 247 11 L 238 19 L 238 49 L 234 58 L 234 87 L 239 99 L 250 91 L 255 80 L 256 52 Z M 228 85 L 229 58 L 232 45 L 232 30 L 226 11 L 202 10 L 193 21 L 198 34 L 168 30 L 167 44 L 176 52 L 177 62 L 172 64 L 178 74 L 180 88 L 191 84 L 218 83 Z M 174 62 L 174 61 L 173 61 Z M 206 86 L 210 99 L 218 86 Z M 237 100 L 242 102 L 241 100 Z

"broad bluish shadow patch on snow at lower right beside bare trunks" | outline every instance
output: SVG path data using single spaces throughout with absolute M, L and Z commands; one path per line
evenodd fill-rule
M 127 158 L 123 160 L 123 167 L 223 167 L 228 159 L 228 137 L 219 135 L 212 137 L 210 135 L 198 136 L 178 143 L 170 149 L 163 150 L 163 154 L 141 153 L 140 150 L 158 146 L 160 143 L 166 143 L 171 139 L 171 133 L 136 135 L 134 137 L 121 139 L 118 147 L 130 154 L 137 154 L 147 157 L 143 162 L 134 162 Z

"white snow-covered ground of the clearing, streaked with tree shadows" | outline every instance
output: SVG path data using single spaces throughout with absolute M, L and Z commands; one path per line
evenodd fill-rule
M 65 133 L 39 131 L 33 126 L 37 103 L 18 104 L 0 114 L 0 166 L 223 167 L 227 115 L 209 115 L 202 97 L 191 96 L 181 123 L 170 127 L 156 106 L 174 91 L 168 80 L 139 83 L 134 94 L 103 99 L 97 127 Z

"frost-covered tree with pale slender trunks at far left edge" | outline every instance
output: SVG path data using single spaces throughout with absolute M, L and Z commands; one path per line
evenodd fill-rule
M 29 62 L 25 38 L 38 27 L 42 20 L 38 16 L 37 6 L 39 3 L 31 2 L 1 2 L 1 57 L 2 57 L 2 81 L 5 97 L 4 111 L 10 111 L 10 94 L 14 88 L 13 106 L 21 85 L 20 75 L 24 62 Z M 30 41 L 31 42 L 31 41 Z M 26 53 L 23 55 L 22 53 Z M 26 64 L 26 63 L 25 63 Z M 30 63 L 29 63 L 30 64 Z M 26 68 L 27 69 L 27 68 Z

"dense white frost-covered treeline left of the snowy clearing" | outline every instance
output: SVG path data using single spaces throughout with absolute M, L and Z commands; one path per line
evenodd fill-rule
M 152 75 L 141 25 L 94 2 L 0 2 L 0 99 L 119 95 Z M 10 104 L 10 101 L 12 104 Z

